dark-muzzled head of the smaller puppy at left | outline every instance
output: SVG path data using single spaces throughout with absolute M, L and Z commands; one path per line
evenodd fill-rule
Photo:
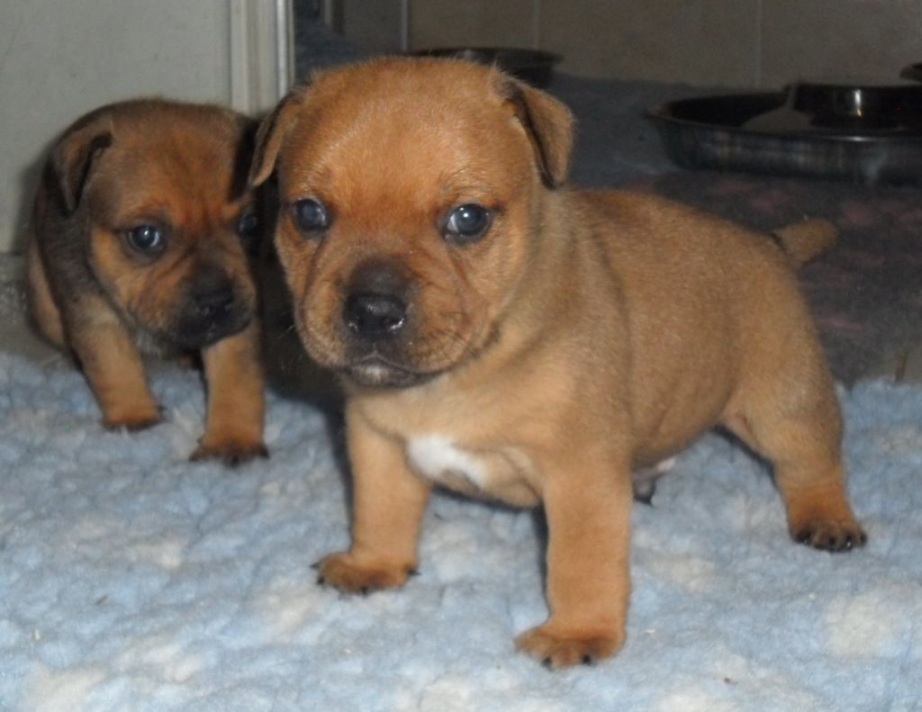
M 91 279 L 159 341 L 199 349 L 254 316 L 254 136 L 228 110 L 140 100 L 89 113 L 53 148 L 46 185 L 89 238 Z

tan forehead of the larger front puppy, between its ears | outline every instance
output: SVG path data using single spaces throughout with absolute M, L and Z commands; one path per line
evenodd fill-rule
M 376 194 L 429 202 L 432 191 L 495 192 L 516 175 L 534 174 L 526 133 L 491 85 L 489 68 L 401 68 L 366 67 L 316 80 L 280 160 L 287 192 L 329 189 L 347 202 Z

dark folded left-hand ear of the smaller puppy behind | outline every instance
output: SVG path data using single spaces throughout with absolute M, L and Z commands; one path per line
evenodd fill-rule
M 49 167 L 65 213 L 80 205 L 100 153 L 112 145 L 112 116 L 90 113 L 65 131 L 52 149 Z

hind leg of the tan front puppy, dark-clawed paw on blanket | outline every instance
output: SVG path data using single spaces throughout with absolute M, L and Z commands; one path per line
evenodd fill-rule
M 738 394 L 723 423 L 774 465 L 794 540 L 828 552 L 863 546 L 867 536 L 845 494 L 842 419 L 832 383 L 825 373 L 799 381 L 790 376 Z

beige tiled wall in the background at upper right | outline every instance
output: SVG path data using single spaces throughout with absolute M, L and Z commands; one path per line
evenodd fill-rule
M 588 77 L 778 87 L 922 62 L 922 0 L 408 2 L 411 49 L 539 47 Z

